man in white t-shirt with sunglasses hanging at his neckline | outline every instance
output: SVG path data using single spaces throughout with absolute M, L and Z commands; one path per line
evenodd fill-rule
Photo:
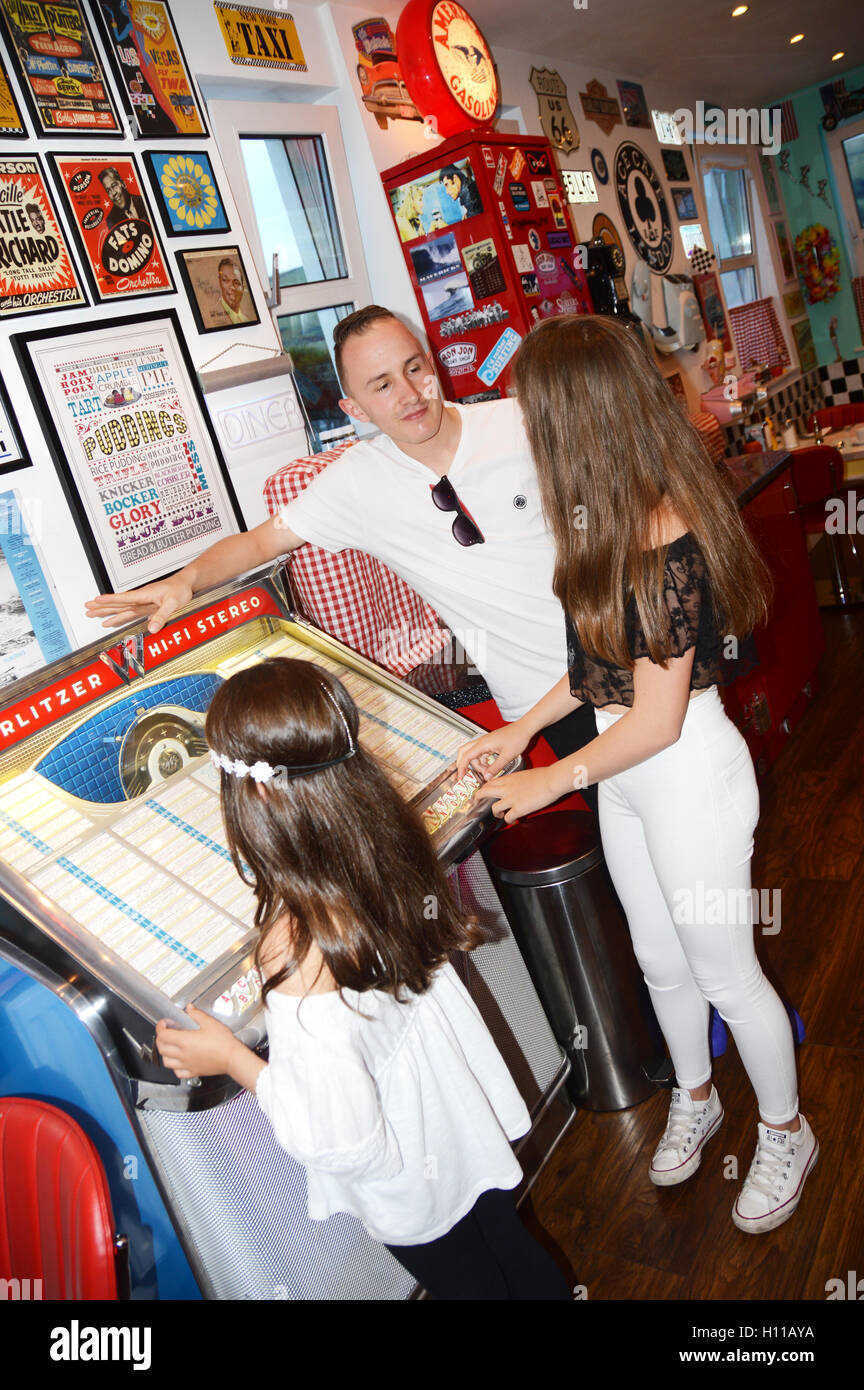
M 169 578 L 93 599 L 88 612 L 106 627 L 150 612 L 157 632 L 199 589 L 306 542 L 367 550 L 432 605 L 515 720 L 567 669 L 554 549 L 520 407 L 507 398 L 445 403 L 432 353 L 376 304 L 342 320 L 333 341 L 342 409 L 381 434 L 328 464 L 278 516 Z M 545 734 L 558 756 L 575 752 L 596 737 L 590 709 L 574 702 Z

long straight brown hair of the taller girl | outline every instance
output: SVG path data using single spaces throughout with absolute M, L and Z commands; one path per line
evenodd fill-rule
M 632 670 L 633 594 L 651 659 L 668 660 L 667 552 L 650 549 L 663 505 L 701 548 L 718 631 L 751 632 L 767 616 L 767 566 L 636 335 L 600 314 L 546 320 L 521 345 L 513 379 L 556 543 L 554 592 L 586 652 Z

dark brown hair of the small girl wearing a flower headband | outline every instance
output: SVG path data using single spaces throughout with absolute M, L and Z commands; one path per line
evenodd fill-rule
M 207 712 L 213 749 L 278 770 L 264 795 L 249 774 L 221 774 L 231 856 L 257 898 L 258 969 L 268 935 L 281 919 L 289 923 L 292 959 L 265 997 L 313 942 L 339 990 L 400 998 L 403 987 L 422 994 L 450 951 L 488 940 L 457 910 L 419 815 L 357 744 L 358 723 L 340 681 L 285 657 L 232 676 Z M 343 762 L 292 774 L 340 759 L 351 744 L 357 751 Z

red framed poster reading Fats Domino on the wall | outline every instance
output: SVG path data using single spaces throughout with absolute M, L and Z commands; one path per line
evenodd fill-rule
M 174 293 L 131 154 L 51 154 L 97 300 Z

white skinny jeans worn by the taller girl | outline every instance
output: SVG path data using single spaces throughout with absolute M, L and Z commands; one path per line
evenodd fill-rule
M 597 733 L 622 714 L 597 709 Z M 600 834 L 678 1084 L 711 1076 L 708 1005 L 728 1024 L 765 1125 L 797 1115 L 792 1027 L 753 947 L 758 790 L 717 687 L 671 748 L 599 784 Z

